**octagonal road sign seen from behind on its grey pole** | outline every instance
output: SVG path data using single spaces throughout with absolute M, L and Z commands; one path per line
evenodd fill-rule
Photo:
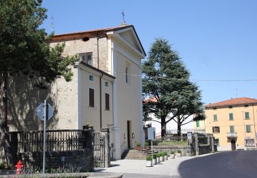
M 45 138 L 46 138 L 46 127 L 47 127 L 47 120 L 50 120 L 53 117 L 53 107 L 47 100 L 44 103 L 40 103 L 38 107 L 36 107 L 36 116 L 40 120 L 44 121 L 44 143 L 43 143 L 43 175 L 45 175 Z

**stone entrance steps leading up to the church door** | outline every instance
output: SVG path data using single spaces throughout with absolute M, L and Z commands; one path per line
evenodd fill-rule
M 154 151 L 154 153 L 158 153 L 157 151 Z M 124 151 L 121 155 L 121 159 L 125 160 L 145 160 L 147 155 L 151 155 L 151 149 L 142 149 L 140 151 L 136 149 L 130 149 L 127 151 Z

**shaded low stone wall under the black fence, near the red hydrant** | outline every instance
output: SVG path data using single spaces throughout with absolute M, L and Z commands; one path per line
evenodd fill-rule
M 25 152 L 17 155 L 25 168 L 42 168 L 42 156 L 42 152 Z M 45 154 L 46 169 L 72 165 L 73 168 L 87 172 L 93 170 L 93 162 L 93 150 L 88 148 L 75 151 L 48 151 Z

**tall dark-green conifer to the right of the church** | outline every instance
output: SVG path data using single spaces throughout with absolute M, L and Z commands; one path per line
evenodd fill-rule
M 201 92 L 189 77 L 190 73 L 169 42 L 156 39 L 143 62 L 143 94 L 151 98 L 143 103 L 143 111 L 145 119 L 149 119 L 150 113 L 160 119 L 162 136 L 169 121 L 178 123 L 180 134 L 180 127 L 186 124 L 188 116 L 202 116 Z

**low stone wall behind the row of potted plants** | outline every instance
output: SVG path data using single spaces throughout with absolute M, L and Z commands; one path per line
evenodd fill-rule
M 189 156 L 190 155 L 190 147 L 189 146 L 153 146 L 154 151 L 163 152 L 167 151 L 167 153 L 170 153 L 171 150 L 175 153 L 178 150 L 182 151 L 182 156 Z

